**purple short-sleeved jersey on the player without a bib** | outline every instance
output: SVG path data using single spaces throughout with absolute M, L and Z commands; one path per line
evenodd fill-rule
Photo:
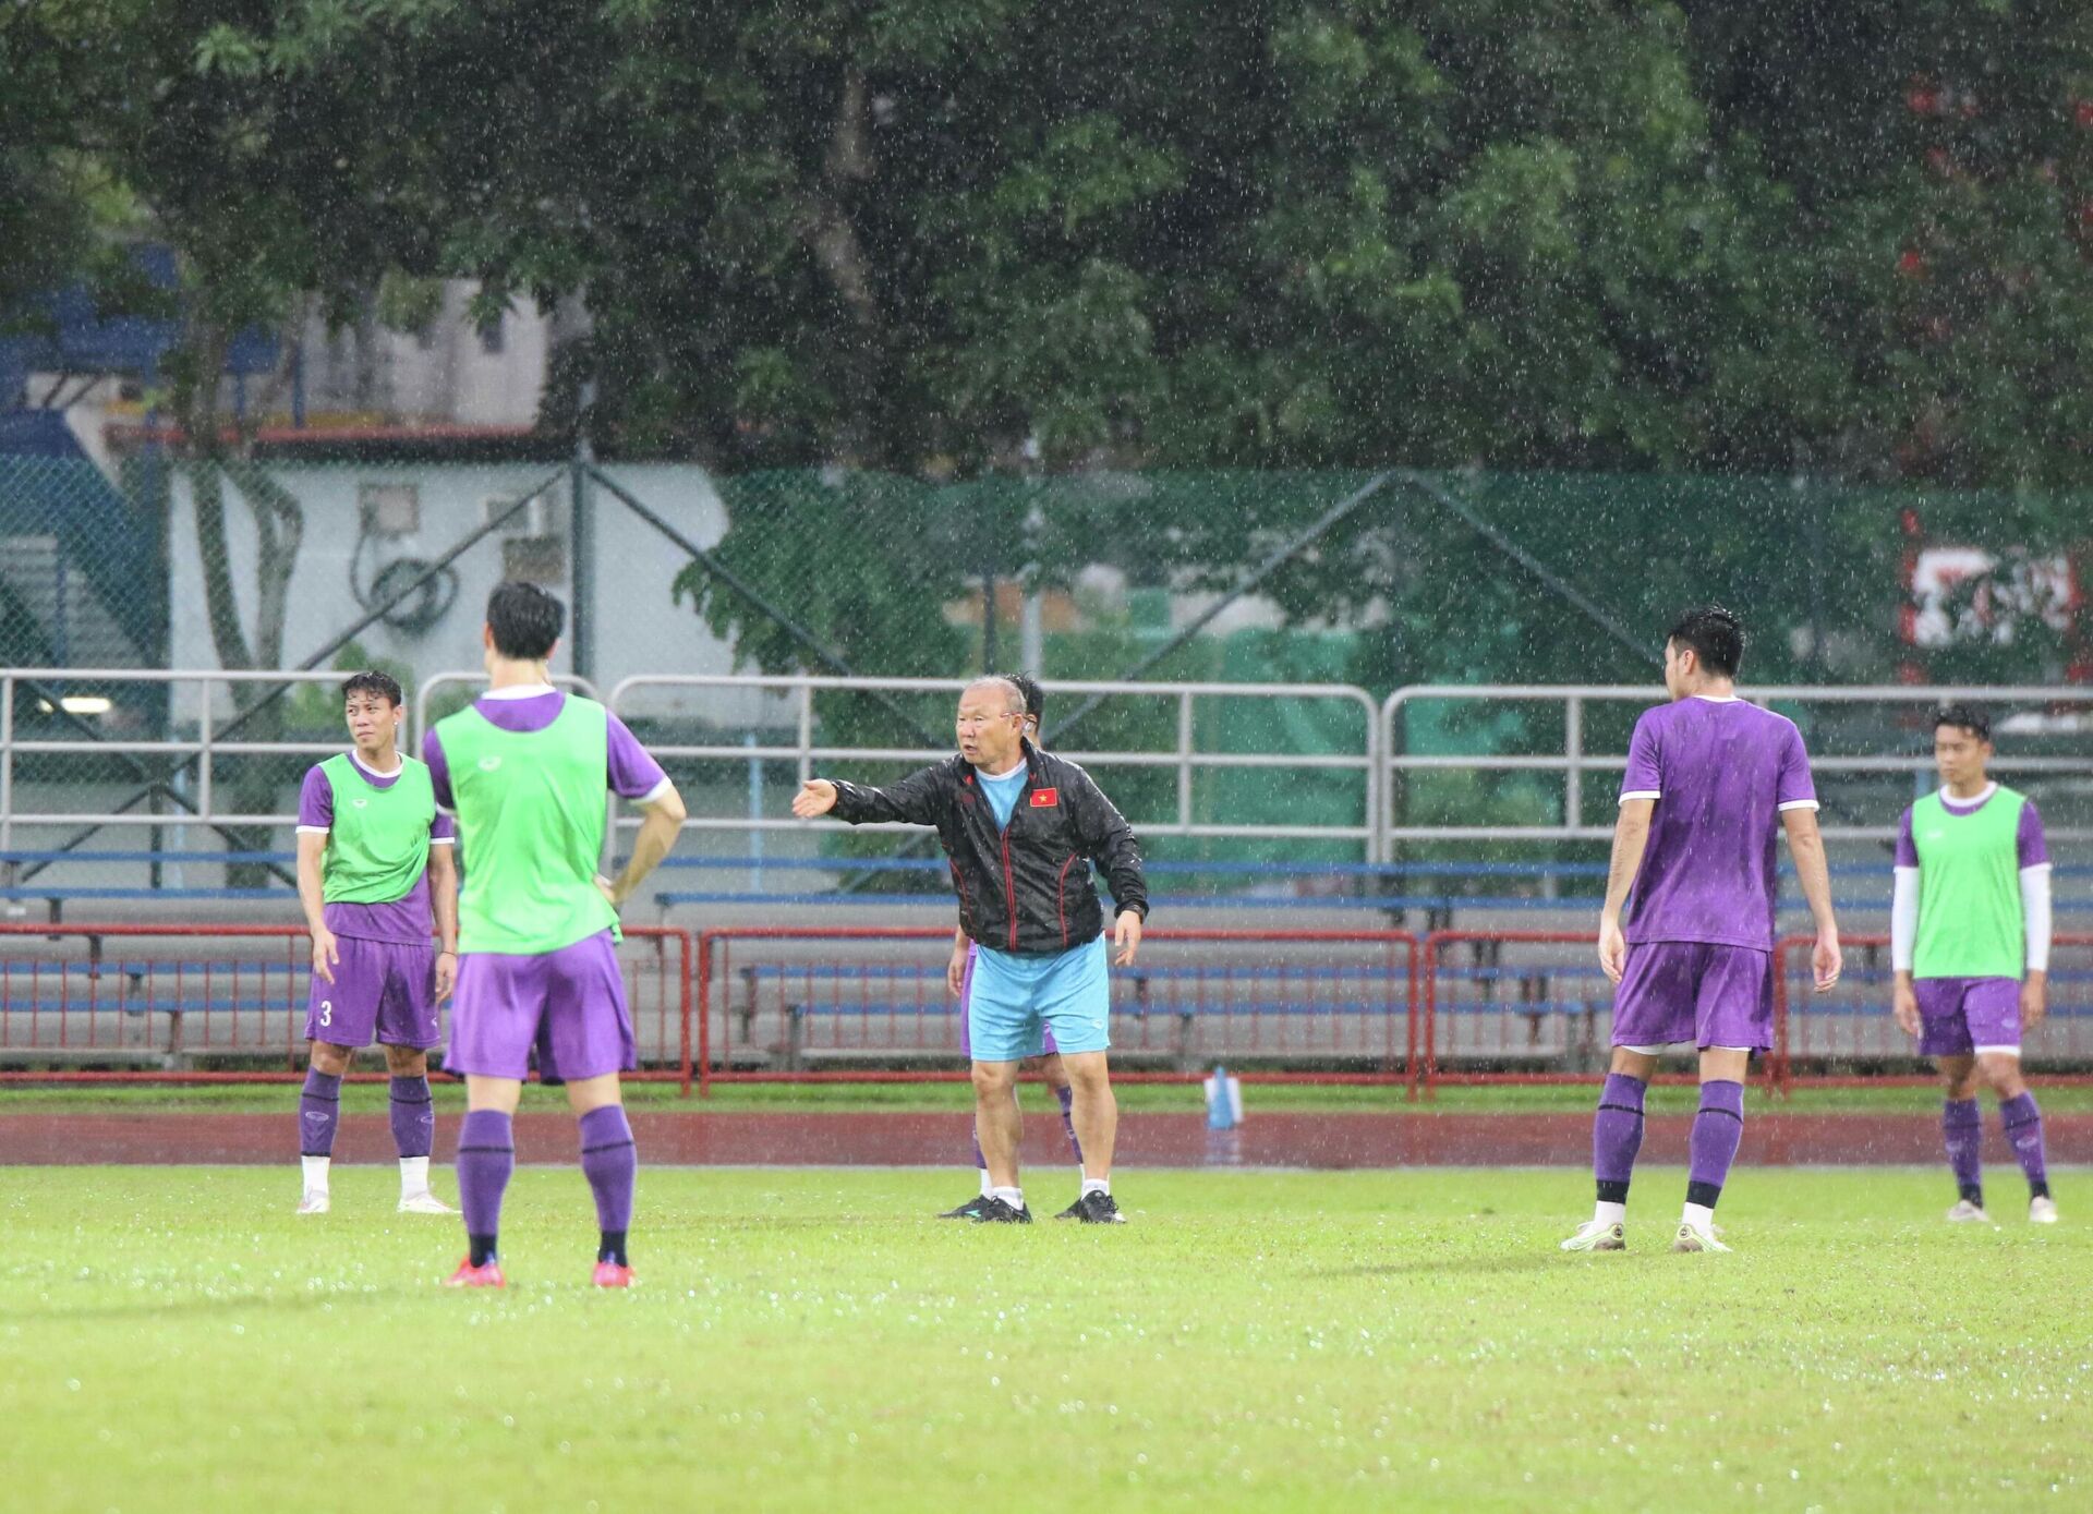
M 1645 710 L 1620 798 L 1656 800 L 1628 940 L 1773 951 L 1781 810 L 1817 808 L 1794 722 L 1735 697 Z

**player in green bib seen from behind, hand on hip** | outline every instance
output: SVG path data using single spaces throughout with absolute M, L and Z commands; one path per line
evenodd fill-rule
M 626 1233 L 638 1152 L 617 1074 L 638 1066 L 617 972 L 617 907 L 668 856 L 682 798 L 624 722 L 553 689 L 546 660 L 565 607 L 536 584 L 488 597 L 488 691 L 423 739 L 435 798 L 458 817 L 458 990 L 446 1066 L 465 1074 L 458 1202 L 467 1256 L 454 1288 L 500 1288 L 502 1192 L 515 1171 L 511 1116 L 532 1051 L 567 1085 L 582 1173 L 597 1198 L 594 1284 L 628 1288 Z M 597 873 L 605 789 L 647 810 L 617 882 Z

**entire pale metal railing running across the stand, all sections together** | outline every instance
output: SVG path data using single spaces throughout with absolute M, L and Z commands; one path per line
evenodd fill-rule
M 226 672 L 226 670 L 140 670 L 140 668 L 0 668 L 0 854 L 17 850 L 21 827 L 165 827 L 165 825 L 291 825 L 291 812 L 220 812 L 218 762 L 226 758 L 255 756 L 308 756 L 318 758 L 341 750 L 341 737 L 318 737 L 314 733 L 253 739 L 247 735 L 251 702 L 228 697 L 230 685 L 324 685 L 333 687 L 339 672 Z M 419 733 L 429 725 L 433 702 L 456 687 L 477 687 L 477 670 L 446 670 L 421 681 L 414 691 L 412 718 L 404 733 L 408 750 L 414 750 Z M 597 697 L 594 685 L 567 674 L 555 676 L 567 689 Z M 180 702 L 180 725 L 167 722 L 165 731 L 151 735 L 130 735 L 119 729 L 98 729 L 92 714 L 73 708 L 75 693 L 92 689 L 94 699 L 123 689 L 157 687 L 165 695 L 184 695 Z M 779 741 L 772 733 L 762 739 L 758 731 L 747 731 L 743 739 L 710 741 L 655 741 L 653 752 L 668 760 L 724 760 L 747 762 L 751 775 L 760 775 L 764 764 L 789 764 L 797 777 L 810 777 L 816 764 L 839 762 L 936 762 L 950 754 L 944 745 L 850 745 L 820 739 L 816 697 L 825 693 L 871 693 L 875 697 L 921 697 L 954 695 L 965 687 L 963 678 L 839 678 L 839 676 L 743 676 L 743 674 L 643 674 L 624 678 L 611 687 L 607 704 L 626 718 L 643 718 L 649 691 L 733 691 L 739 695 L 760 695 L 774 699 L 779 708 L 777 725 L 785 725 L 791 737 Z M 1239 838 L 1239 840 L 1298 840 L 1298 842 L 1340 842 L 1356 848 L 1360 863 L 1394 865 L 1398 850 L 1411 842 L 1603 842 L 1612 833 L 1612 815 L 1599 804 L 1601 779 L 1605 798 L 1612 794 L 1612 779 L 1624 769 L 1626 756 L 1618 752 L 1595 752 L 1589 737 L 1593 710 L 1599 706 L 1651 706 L 1662 702 L 1656 685 L 1413 685 L 1398 689 L 1383 704 L 1375 706 L 1365 689 L 1352 685 L 1270 685 L 1270 683 L 1049 683 L 1057 695 L 1097 695 L 1109 699 L 1155 702 L 1168 710 L 1170 737 L 1149 750 L 1076 750 L 1057 748 L 1086 766 L 1099 771 L 1168 771 L 1174 777 L 1174 798 L 1166 815 L 1130 815 L 1145 836 L 1157 838 Z M 38 699 L 48 714 L 50 731 L 23 735 L 19 706 L 25 697 Z M 1804 716 L 1804 722 L 1827 718 L 1840 708 L 1856 710 L 1882 706 L 1896 712 L 1900 735 L 1909 735 L 1928 706 L 1942 699 L 1976 699 L 1993 710 L 2057 710 L 2072 706 L 2093 708 L 2093 691 L 2076 687 L 1766 687 L 1746 689 L 1746 697 L 1758 704 L 1775 704 Z M 1342 752 L 1298 752 L 1298 750 L 1216 750 L 1212 731 L 1222 722 L 1199 718 L 1199 702 L 1241 699 L 1241 702 L 1312 702 L 1337 704 L 1356 710 L 1356 727 L 1346 720 L 1342 737 L 1352 750 Z M 170 699 L 174 702 L 174 699 Z M 1406 739 L 1409 716 L 1419 706 L 1463 704 L 1496 706 L 1513 710 L 1520 706 L 1540 706 L 1547 720 L 1559 729 L 1557 750 L 1540 752 L 1413 752 Z M 1610 716 L 1614 727 L 1624 729 L 1620 714 Z M 1157 722 L 1162 727 L 1162 722 Z M 1553 741 L 1553 729 L 1547 739 Z M 193 735 L 176 735 L 193 731 Z M 1049 729 L 1049 737 L 1053 731 Z M 1356 737 L 1356 739 L 1354 739 Z M 1522 737 L 1524 739 L 1524 737 Z M 1867 743 L 1867 731 L 1846 737 Z M 1279 743 L 1270 743 L 1277 748 Z M 1503 733 L 1478 741 L 1478 745 L 1503 745 Z M 1624 739 L 1620 741 L 1624 745 Z M 1917 739 L 1907 750 L 1886 750 L 1894 745 L 1880 735 L 1875 750 L 1825 750 L 1827 743 L 1813 741 L 1810 766 L 1819 775 L 1819 789 L 1825 794 L 1823 831 L 1829 840 L 1888 840 L 1892 836 L 1896 810 L 1888 798 L 1873 794 L 1865 804 L 1842 806 L 1831 794 L 1838 779 L 1867 779 L 1869 775 L 1909 775 L 1913 789 L 1932 771 L 1932 758 Z M 1833 743 L 1836 745 L 1836 743 Z M 2083 743 L 2080 743 L 2083 745 Z M 138 792 L 123 804 L 111 802 L 107 808 L 80 808 L 77 800 L 65 808 L 33 810 L 21 806 L 21 760 L 23 758 L 117 758 L 123 773 L 111 779 L 113 785 L 130 785 Z M 2045 775 L 2093 779 L 2093 752 L 2026 754 L 2007 750 L 1997 762 L 2005 777 Z M 1199 819 L 1195 787 L 1201 775 L 1222 771 L 1300 773 L 1325 771 L 1358 775 L 1360 806 L 1337 823 L 1308 823 L 1287 819 Z M 1559 777 L 1559 819 L 1555 823 L 1467 823 L 1459 817 L 1421 823 L 1406 812 L 1409 789 L 1430 773 L 1536 773 Z M 1107 792 L 1111 783 L 1107 779 Z M 291 787 L 285 785 L 285 794 Z M 138 804 L 151 798 L 151 804 Z M 1605 806 L 1610 808 L 1610 806 Z M 720 815 L 697 812 L 689 821 L 695 831 L 739 831 L 751 838 L 751 852 L 760 850 L 768 831 L 791 831 L 804 823 L 777 806 L 751 804 L 753 812 Z M 1586 819 L 1586 810 L 1591 810 Z M 617 827 L 632 827 L 638 821 L 630 815 L 617 817 Z M 873 829 L 873 827 L 869 827 Z M 890 829 L 890 827 L 879 827 Z M 910 829 L 910 827 L 892 827 Z M 2055 842 L 2093 840 L 2093 827 L 2060 825 L 2051 819 L 2049 836 Z M 69 840 L 67 846 L 75 842 Z M 199 861 L 205 854 L 199 852 Z M 841 859 L 839 859 L 841 861 Z M 40 863 L 42 865 L 42 863 Z M 843 863 L 848 865 L 848 863 Z

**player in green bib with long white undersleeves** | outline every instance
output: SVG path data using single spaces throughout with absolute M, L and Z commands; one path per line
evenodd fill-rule
M 2049 848 L 2034 804 L 1984 777 L 1990 756 L 1982 712 L 1961 704 L 1940 710 L 1940 789 L 1905 810 L 1896 833 L 1894 1009 L 1946 1085 L 1940 1129 L 1957 1189 L 1949 1219 L 1990 1219 L 1976 1108 L 1978 1087 L 1988 1087 L 2028 1177 L 2028 1219 L 2053 1225 L 2043 1112 L 2020 1076 L 2020 1032 L 2047 1011 Z

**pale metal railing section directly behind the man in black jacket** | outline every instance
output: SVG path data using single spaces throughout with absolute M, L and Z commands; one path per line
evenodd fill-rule
M 952 756 L 952 745 L 940 748 L 846 748 L 818 741 L 814 720 L 814 695 L 837 691 L 881 691 L 881 693 L 946 693 L 957 697 L 967 687 L 967 678 L 829 678 L 829 676 L 743 676 L 743 674 L 645 674 L 626 678 L 611 689 L 611 710 L 620 716 L 632 714 L 632 699 L 647 689 L 735 689 L 764 695 L 781 695 L 791 702 L 793 741 L 762 745 L 751 741 L 722 745 L 651 745 L 661 758 L 718 758 L 749 762 L 793 762 L 802 781 L 814 775 L 818 762 L 938 762 Z M 1176 741 L 1164 752 L 1099 752 L 1086 748 L 1055 745 L 1059 756 L 1082 762 L 1088 769 L 1172 769 L 1176 773 L 1176 817 L 1155 821 L 1130 817 L 1143 836 L 1237 836 L 1237 838 L 1283 838 L 1346 842 L 1356 846 L 1360 861 L 1379 854 L 1375 819 L 1381 815 L 1381 720 L 1373 695 L 1352 685 L 1291 685 L 1291 683 L 1061 683 L 1044 678 L 1040 687 L 1055 695 L 1107 695 L 1166 699 L 1174 704 Z M 1199 699 L 1310 699 L 1337 702 L 1358 710 L 1358 752 L 1304 754 L 1304 752 L 1214 752 L 1199 750 L 1199 722 L 1195 706 Z M 1053 739 L 1053 720 L 1046 720 L 1046 737 Z M 1193 775 L 1214 769 L 1258 769 L 1268 773 L 1300 773 L 1304 769 L 1344 771 L 1360 775 L 1363 806 L 1356 823 L 1350 825 L 1285 825 L 1285 823 L 1201 823 L 1193 819 Z M 1109 783 L 1105 785 L 1109 792 Z M 636 821 L 622 821 L 634 825 Z M 779 804 L 774 815 L 718 817 L 693 815 L 689 829 L 705 831 L 777 831 L 802 829 L 806 821 L 795 821 Z M 917 829 L 917 827 L 862 827 L 862 829 Z

